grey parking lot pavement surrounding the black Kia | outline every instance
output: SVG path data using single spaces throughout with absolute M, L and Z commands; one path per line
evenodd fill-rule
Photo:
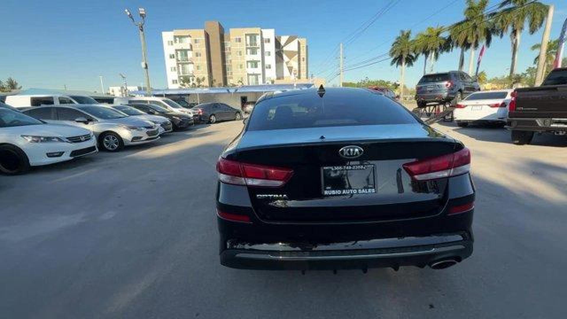
M 0 318 L 565 316 L 567 138 L 435 124 L 472 152 L 472 257 L 302 275 L 218 263 L 215 162 L 241 127 L 0 176 Z

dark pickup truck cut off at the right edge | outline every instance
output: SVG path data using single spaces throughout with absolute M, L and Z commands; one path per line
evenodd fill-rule
M 511 94 L 507 128 L 516 145 L 530 144 L 534 133 L 567 135 L 567 68 L 552 70 L 541 86 Z

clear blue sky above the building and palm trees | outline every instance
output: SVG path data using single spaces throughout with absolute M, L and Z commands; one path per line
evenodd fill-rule
M 231 27 L 274 28 L 277 35 L 306 37 L 310 49 L 310 73 L 337 69 L 332 55 L 337 44 L 369 20 L 388 3 L 379 1 L 15 1 L 2 2 L 0 28 L 0 79 L 16 78 L 24 88 L 42 87 L 100 91 L 104 85 L 120 85 L 119 73 L 129 85 L 141 85 L 141 51 L 136 27 L 124 15 L 128 7 L 147 11 L 146 39 L 152 86 L 166 86 L 161 31 L 174 28 L 203 28 L 206 20 L 218 20 Z M 442 7 L 445 10 L 419 23 Z M 491 1 L 490 5 L 497 3 Z M 546 2 L 547 3 L 547 2 Z M 556 38 L 567 18 L 567 2 L 554 1 L 552 38 Z M 378 56 L 390 48 L 399 30 L 412 28 L 413 34 L 428 26 L 443 26 L 462 19 L 464 0 L 402 0 L 380 16 L 356 41 L 345 45 L 345 66 Z M 522 35 L 518 69 L 530 66 L 536 52 L 532 44 L 541 40 L 543 29 Z M 382 44 L 382 45 L 379 45 Z M 506 73 L 510 65 L 510 39 L 497 38 L 486 51 L 481 70 L 489 77 Z M 436 71 L 455 69 L 458 52 L 443 54 Z M 468 65 L 468 56 L 466 60 Z M 423 61 L 407 71 L 408 85 L 421 76 Z M 333 73 L 329 70 L 327 74 Z M 345 81 L 396 80 L 399 70 L 389 61 L 345 73 Z M 335 81 L 337 82 L 337 79 Z

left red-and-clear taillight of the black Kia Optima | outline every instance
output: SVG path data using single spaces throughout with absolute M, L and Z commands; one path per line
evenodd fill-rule
M 218 178 L 223 183 L 259 187 L 280 187 L 287 183 L 293 170 L 284 167 L 257 165 L 220 158 Z

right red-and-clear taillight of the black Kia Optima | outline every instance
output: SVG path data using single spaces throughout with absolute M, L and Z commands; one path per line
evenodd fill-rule
M 403 167 L 413 180 L 428 181 L 468 173 L 470 163 L 471 152 L 463 148 L 455 153 L 405 163 Z

